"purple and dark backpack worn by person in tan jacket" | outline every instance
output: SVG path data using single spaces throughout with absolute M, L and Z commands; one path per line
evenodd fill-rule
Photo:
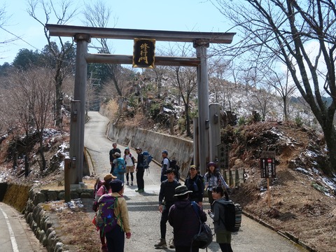
M 103 195 L 102 200 L 99 201 L 99 208 L 94 219 L 96 227 L 102 230 L 102 235 L 117 226 L 118 218 L 120 218 L 120 216 L 115 216 L 114 214 L 117 204 L 118 197 L 111 195 Z

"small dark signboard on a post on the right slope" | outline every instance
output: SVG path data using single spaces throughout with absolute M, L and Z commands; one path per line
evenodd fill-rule
M 260 155 L 261 178 L 267 179 L 268 207 L 271 207 L 271 195 L 269 193 L 269 178 L 275 178 L 275 151 L 263 151 Z

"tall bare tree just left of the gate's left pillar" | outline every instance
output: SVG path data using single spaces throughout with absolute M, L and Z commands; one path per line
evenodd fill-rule
M 72 71 L 73 68 L 69 67 L 69 65 L 73 65 L 73 62 L 69 62 L 70 52 L 73 52 L 73 41 L 71 43 L 64 43 L 61 37 L 58 37 L 59 48 L 55 42 L 51 40 L 51 36 L 48 33 L 48 29 L 46 25 L 50 21 L 51 16 L 56 18 L 57 25 L 65 25 L 67 22 L 76 15 L 76 8 L 71 10 L 71 1 L 70 0 L 62 0 L 59 3 L 55 3 L 52 0 L 29 0 L 29 7 L 27 8 L 27 12 L 34 18 L 38 23 L 43 26 L 45 38 L 48 41 L 48 52 L 55 59 L 54 69 L 55 69 L 55 125 L 61 129 L 63 127 L 63 114 L 62 114 L 62 105 L 63 105 L 63 93 L 62 93 L 62 85 L 63 80 L 66 78 L 66 75 L 69 74 L 69 71 Z M 42 17 L 38 17 L 37 10 L 38 8 L 42 8 L 44 11 L 44 20 Z M 70 64 L 69 64 L 70 63 Z M 66 67 L 68 66 L 68 67 Z

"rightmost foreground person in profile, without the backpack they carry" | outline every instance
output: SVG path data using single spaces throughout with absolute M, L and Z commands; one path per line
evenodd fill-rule
M 228 192 L 223 190 L 223 187 L 216 186 L 212 188 L 212 197 L 214 198 L 214 210 L 208 210 L 208 214 L 214 220 L 216 242 L 223 252 L 232 252 L 231 232 L 225 228 L 225 220 L 223 220 L 223 217 L 220 217 L 225 216 L 224 204 L 229 202 Z

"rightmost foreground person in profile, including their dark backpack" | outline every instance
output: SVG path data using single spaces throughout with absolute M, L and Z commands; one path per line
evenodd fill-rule
M 228 191 L 223 190 L 221 186 L 213 188 L 212 197 L 214 198 L 214 210 L 208 210 L 208 214 L 214 220 L 216 242 L 223 252 L 232 252 L 231 233 L 236 222 L 235 204 L 229 200 Z

